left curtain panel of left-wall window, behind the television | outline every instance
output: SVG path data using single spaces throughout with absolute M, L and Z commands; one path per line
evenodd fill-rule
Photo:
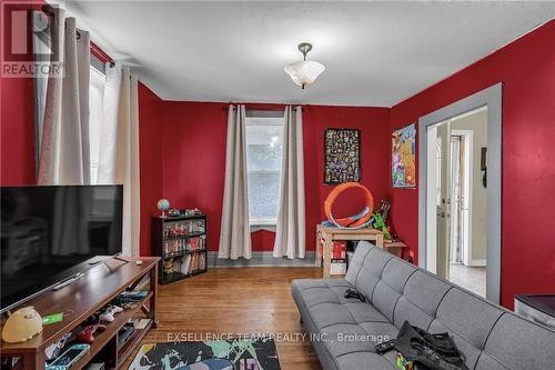
M 48 79 L 38 183 L 88 184 L 90 37 L 62 9 L 54 11 L 51 47 L 62 74 Z

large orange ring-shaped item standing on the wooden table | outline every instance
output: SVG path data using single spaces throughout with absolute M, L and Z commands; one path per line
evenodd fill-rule
M 332 206 L 335 199 L 345 190 L 351 188 L 360 189 L 364 194 L 364 209 L 359 213 L 341 219 L 335 219 L 332 213 Z M 361 229 L 371 222 L 372 212 L 374 211 L 374 197 L 366 187 L 359 182 L 345 182 L 335 187 L 324 201 L 324 214 L 332 224 L 340 229 Z

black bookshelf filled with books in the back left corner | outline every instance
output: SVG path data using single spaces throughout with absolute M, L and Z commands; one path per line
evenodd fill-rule
M 206 216 L 152 217 L 152 256 L 160 257 L 159 282 L 206 272 Z

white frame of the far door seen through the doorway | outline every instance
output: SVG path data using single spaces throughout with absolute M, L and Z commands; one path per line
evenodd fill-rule
M 463 138 L 462 146 L 464 147 L 464 207 L 467 209 L 463 211 L 462 216 L 462 231 L 463 238 L 463 250 L 461 252 L 461 259 L 464 266 L 468 266 L 472 256 L 472 186 L 474 184 L 474 179 L 472 174 L 474 173 L 474 131 L 473 130 L 451 130 L 451 134 L 458 136 Z M 453 202 L 452 202 L 453 203 Z

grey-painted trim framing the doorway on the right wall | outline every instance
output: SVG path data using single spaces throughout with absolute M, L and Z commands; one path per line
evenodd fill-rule
M 487 107 L 486 298 L 501 300 L 502 83 L 494 84 L 418 119 L 418 266 L 426 268 L 427 127 Z M 495 158 L 496 160 L 491 160 Z

